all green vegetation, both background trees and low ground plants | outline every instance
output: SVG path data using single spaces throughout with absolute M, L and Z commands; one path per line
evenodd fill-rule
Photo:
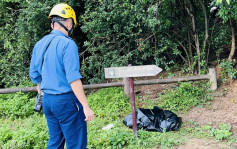
M 84 83 L 103 82 L 104 68 L 128 64 L 156 64 L 173 77 L 171 70 L 201 74 L 216 63 L 222 81 L 236 79 L 235 0 L 2 0 L 0 88 L 33 86 L 28 75 L 31 53 L 35 43 L 50 32 L 47 16 L 59 2 L 76 10 L 79 25 L 73 39 L 79 47 Z M 157 99 L 137 97 L 137 101 L 143 108 L 188 111 L 211 100 L 208 86 L 180 83 Z M 101 89 L 88 100 L 96 111 L 95 120 L 88 124 L 89 148 L 171 148 L 184 143 L 185 137 L 198 135 L 236 142 L 227 124 L 218 128 L 184 124 L 180 131 L 167 133 L 139 130 L 135 139 L 122 124 L 130 113 L 130 101 L 121 88 Z M 46 121 L 42 113 L 33 112 L 34 102 L 34 93 L 0 95 L 0 148 L 46 147 Z M 115 127 L 102 130 L 108 124 Z

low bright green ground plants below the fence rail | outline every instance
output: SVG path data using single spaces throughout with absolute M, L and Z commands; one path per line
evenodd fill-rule
M 138 97 L 136 100 L 144 104 L 139 108 L 162 106 L 174 111 L 186 111 L 210 100 L 210 93 L 206 91 L 205 86 L 207 85 L 203 83 L 180 83 L 179 87 L 168 90 L 157 99 L 142 100 Z M 181 98 L 182 96 L 185 98 Z M 163 100 L 164 98 L 166 100 Z M 197 98 L 200 101 L 196 101 Z M 190 100 L 187 101 L 187 99 Z M 124 96 L 122 88 L 98 90 L 91 93 L 88 100 L 96 113 L 96 118 L 88 123 L 88 148 L 145 149 L 158 147 L 168 149 L 184 144 L 187 137 L 236 142 L 230 131 L 231 127 L 227 124 L 220 124 L 218 128 L 211 124 L 201 127 L 191 121 L 184 123 L 180 131 L 160 133 L 139 130 L 138 138 L 134 138 L 132 130 L 122 122 L 123 117 L 131 110 L 129 98 Z M 0 95 L 0 148 L 46 148 L 48 140 L 46 120 L 42 113 L 33 112 L 34 102 L 34 96 L 30 93 Z M 102 129 L 109 124 L 113 124 L 114 127 L 108 130 Z

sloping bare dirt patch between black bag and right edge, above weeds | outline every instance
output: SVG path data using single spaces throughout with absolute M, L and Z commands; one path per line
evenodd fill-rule
M 214 99 L 210 105 L 203 108 L 194 107 L 180 116 L 184 121 L 193 120 L 200 125 L 207 125 L 210 122 L 214 125 L 230 124 L 232 132 L 237 135 L 237 82 L 225 86 L 226 93 L 220 90 L 223 88 L 213 93 Z

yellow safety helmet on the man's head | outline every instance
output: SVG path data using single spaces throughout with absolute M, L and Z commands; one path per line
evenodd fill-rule
M 49 13 L 49 19 L 51 19 L 52 16 L 60 16 L 66 19 L 72 18 L 74 22 L 74 26 L 77 24 L 75 11 L 68 4 L 61 3 L 61 4 L 55 5 Z

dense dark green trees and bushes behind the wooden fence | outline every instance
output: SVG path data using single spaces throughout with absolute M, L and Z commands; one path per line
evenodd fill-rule
M 47 16 L 59 2 L 76 10 L 84 83 L 103 82 L 105 67 L 156 64 L 192 74 L 233 60 L 234 0 L 2 0 L 0 87 L 29 81 L 33 47 L 50 32 Z

